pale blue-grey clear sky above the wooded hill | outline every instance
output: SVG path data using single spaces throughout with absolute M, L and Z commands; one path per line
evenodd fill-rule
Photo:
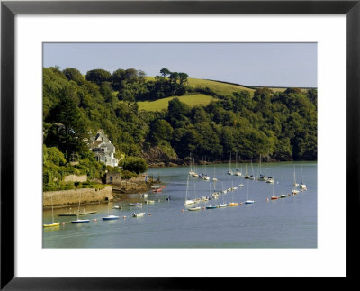
M 317 43 L 44 43 L 43 67 L 118 68 L 160 75 L 161 68 L 189 77 L 246 86 L 317 87 Z

